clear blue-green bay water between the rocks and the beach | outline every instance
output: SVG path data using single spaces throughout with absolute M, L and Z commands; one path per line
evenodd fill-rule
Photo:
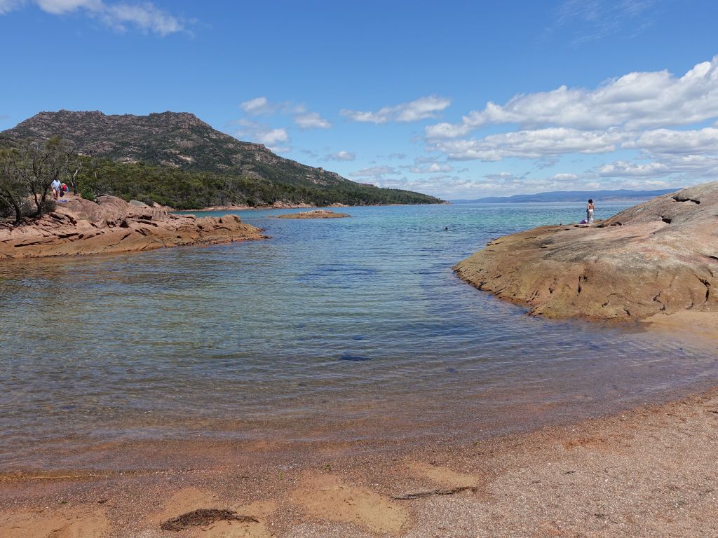
M 532 318 L 452 273 L 582 204 L 342 212 L 238 212 L 265 241 L 1 264 L 0 468 L 109 441 L 490 435 L 715 379 L 711 350 Z

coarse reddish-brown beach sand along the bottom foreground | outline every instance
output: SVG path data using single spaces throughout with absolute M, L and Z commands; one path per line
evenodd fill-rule
M 192 468 L 2 476 L 0 536 L 709 537 L 718 532 L 717 430 L 718 391 L 709 390 L 411 450 L 205 445 Z M 172 461 L 181 448 L 165 450 Z M 163 530 L 169 521 L 190 526 Z

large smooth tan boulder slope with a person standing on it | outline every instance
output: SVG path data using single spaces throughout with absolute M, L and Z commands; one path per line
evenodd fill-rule
M 718 312 L 718 181 L 592 227 L 500 237 L 454 270 L 480 290 L 551 318 Z

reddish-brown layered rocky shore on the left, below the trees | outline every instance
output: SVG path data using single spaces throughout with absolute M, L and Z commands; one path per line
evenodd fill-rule
M 111 196 L 95 203 L 70 195 L 32 224 L 0 225 L 0 259 L 129 253 L 263 237 L 236 215 L 197 219 Z

